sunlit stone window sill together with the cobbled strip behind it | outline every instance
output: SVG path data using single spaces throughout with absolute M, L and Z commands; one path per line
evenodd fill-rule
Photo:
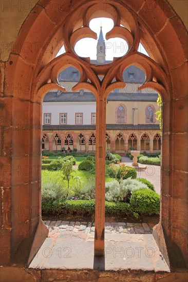
M 106 223 L 104 257 L 94 256 L 95 224 L 61 220 L 45 224 L 49 235 L 31 269 L 170 272 L 147 224 Z

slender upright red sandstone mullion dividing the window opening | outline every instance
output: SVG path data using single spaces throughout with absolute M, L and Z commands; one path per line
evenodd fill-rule
M 106 102 L 97 101 L 95 255 L 104 255 Z

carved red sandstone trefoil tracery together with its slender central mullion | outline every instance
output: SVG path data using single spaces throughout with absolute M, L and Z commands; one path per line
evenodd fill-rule
M 107 96 L 112 90 L 125 86 L 122 73 L 130 65 L 138 66 L 146 74 L 145 82 L 138 90 L 148 87 L 155 89 L 162 95 L 166 95 L 166 89 L 168 89 L 168 77 L 164 70 L 156 63 L 156 61 L 161 60 L 159 51 L 156 51 L 156 61 L 138 52 L 142 36 L 142 40 L 144 41 L 144 29 L 140 28 L 139 19 L 129 9 L 123 9 L 122 12 L 116 6 L 113 6 L 113 4 L 108 4 L 105 11 L 103 8 L 103 3 L 96 1 L 95 4 L 92 4 L 88 2 L 88 5 L 84 5 L 76 12 L 72 12 L 70 18 L 67 19 L 66 24 L 62 27 L 66 52 L 48 63 L 39 72 L 35 78 L 35 84 L 33 84 L 37 86 L 33 88 L 34 100 L 41 102 L 41 98 L 45 92 L 50 89 L 58 88 L 61 91 L 65 91 L 65 88 L 59 83 L 58 73 L 69 66 L 73 66 L 79 70 L 81 77 L 79 82 L 72 87 L 72 91 L 87 89 L 96 96 L 96 255 L 104 254 L 105 124 Z M 128 51 L 124 56 L 114 58 L 114 61 L 110 64 L 95 65 L 90 63 L 89 58 L 79 57 L 74 51 L 74 47 L 82 38 L 91 37 L 97 39 L 96 33 L 89 28 L 89 22 L 92 18 L 102 14 L 103 16 L 112 18 L 114 21 L 114 28 L 106 34 L 106 39 L 113 37 L 124 39 L 128 44 Z M 153 53 L 154 56 L 155 52 Z M 121 140 L 121 138 L 118 137 L 118 140 Z

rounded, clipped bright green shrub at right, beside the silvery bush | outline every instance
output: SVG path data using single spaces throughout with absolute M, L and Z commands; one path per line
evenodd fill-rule
M 160 196 L 149 189 L 135 191 L 130 197 L 130 208 L 140 214 L 159 214 Z

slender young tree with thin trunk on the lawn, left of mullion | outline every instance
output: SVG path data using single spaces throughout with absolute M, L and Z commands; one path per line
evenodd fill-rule
M 64 174 L 63 176 L 61 176 L 61 178 L 63 180 L 66 180 L 68 184 L 67 187 L 67 197 L 68 197 L 70 179 L 77 180 L 80 182 L 80 177 L 72 175 L 72 173 L 76 173 L 76 171 L 73 169 L 73 163 L 71 159 L 67 159 L 65 162 L 63 162 L 61 171 Z

